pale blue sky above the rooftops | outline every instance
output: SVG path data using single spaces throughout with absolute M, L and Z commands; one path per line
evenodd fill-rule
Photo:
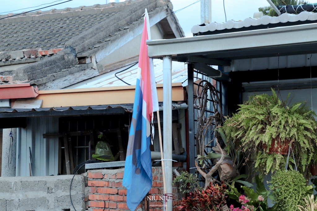
M 0 15 L 8 14 L 9 11 L 22 9 L 18 11 L 14 11 L 13 13 L 19 13 L 23 11 L 29 11 L 33 9 L 38 9 L 42 7 L 46 7 L 52 4 L 65 2 L 67 0 L 60 0 L 55 3 L 52 3 L 56 0 L 10 0 L 10 1 L 2 1 L 0 8 Z M 48 7 L 42 9 L 42 11 L 50 10 L 50 9 L 63 9 L 67 7 L 79 7 L 79 6 L 92 6 L 94 4 L 106 4 L 109 2 L 115 2 L 123 0 L 73 0 L 70 2 L 62 3 L 59 5 L 55 5 L 52 7 Z M 173 10 L 176 11 L 178 9 L 182 9 L 197 0 L 171 0 L 173 4 Z M 310 3 L 317 3 L 317 0 L 310 0 Z M 47 5 L 42 5 L 36 8 L 23 9 L 27 7 L 34 7 L 40 4 L 52 3 Z M 248 17 L 253 17 L 253 13 L 258 12 L 259 7 L 268 6 L 268 2 L 266 0 L 224 0 L 224 6 L 226 10 L 227 20 L 244 20 Z M 5 13 L 6 12 L 6 13 Z M 179 24 L 184 30 L 185 36 L 190 37 L 191 27 L 196 24 L 200 24 L 200 2 L 192 4 L 191 6 L 176 12 L 176 16 L 178 18 Z M 211 1 L 211 21 L 222 23 L 225 22 L 225 15 L 223 10 L 223 0 L 212 0 Z

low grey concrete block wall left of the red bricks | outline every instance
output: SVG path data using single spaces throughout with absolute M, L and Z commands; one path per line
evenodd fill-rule
M 74 210 L 69 187 L 74 175 L 45 177 L 0 177 L 0 211 Z M 77 211 L 85 210 L 85 177 L 76 175 L 72 201 Z

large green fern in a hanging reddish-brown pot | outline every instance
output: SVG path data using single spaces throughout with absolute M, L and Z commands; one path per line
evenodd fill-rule
M 290 148 L 296 161 L 289 158 L 290 168 L 296 164 L 304 172 L 315 162 L 316 114 L 305 102 L 288 106 L 287 99 L 280 100 L 273 89 L 272 95 L 250 96 L 249 101 L 239 105 L 238 112 L 224 122 L 228 143 L 241 148 L 246 158 L 256 160 L 260 176 L 285 166 Z

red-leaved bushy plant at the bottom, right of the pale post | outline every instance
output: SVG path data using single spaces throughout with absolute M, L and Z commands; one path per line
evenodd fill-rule
M 210 186 L 206 190 L 190 192 L 189 196 L 182 199 L 178 209 L 181 210 L 184 208 L 185 211 L 222 210 L 222 206 L 226 204 L 228 196 L 224 195 L 226 185 L 223 182 L 221 183 L 221 186 L 210 183 Z

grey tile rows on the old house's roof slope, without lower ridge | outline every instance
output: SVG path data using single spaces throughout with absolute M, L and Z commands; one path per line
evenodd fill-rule
M 51 9 L 2 19 L 0 20 L 0 52 L 32 48 L 48 50 L 64 46 L 65 42 L 74 36 L 107 21 L 119 12 L 140 2 L 142 0 L 96 4 L 90 7 Z M 108 36 L 97 40 L 97 43 L 104 43 L 109 41 L 109 38 L 122 34 L 120 32 L 123 30 L 135 28 L 138 25 L 138 20 L 142 18 L 141 15 L 131 22 L 126 22 L 118 29 L 109 31 Z M 3 15 L 0 18 L 7 16 Z

